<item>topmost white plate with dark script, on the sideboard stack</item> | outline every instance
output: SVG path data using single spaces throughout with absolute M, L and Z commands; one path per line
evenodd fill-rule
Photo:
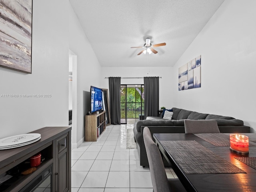
M 41 134 L 39 134 L 39 133 L 27 133 L 27 134 L 6 137 L 3 139 L 0 139 L 0 147 L 23 144 L 26 142 L 36 140 L 39 137 L 41 137 Z

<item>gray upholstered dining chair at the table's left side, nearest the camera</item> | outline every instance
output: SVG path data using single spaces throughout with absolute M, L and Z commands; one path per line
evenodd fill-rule
M 168 179 L 158 146 L 152 140 L 148 127 L 143 129 L 143 138 L 148 156 L 153 192 L 186 192 L 179 179 Z

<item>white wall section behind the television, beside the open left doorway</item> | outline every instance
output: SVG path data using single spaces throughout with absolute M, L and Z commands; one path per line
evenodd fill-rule
M 83 91 L 90 92 L 90 86 L 100 87 L 101 67 L 88 41 L 72 6 L 68 7 L 69 49 L 76 54 L 77 62 L 77 124 L 76 140 L 72 142 L 79 146 L 84 141 Z M 74 70 L 74 66 L 73 66 Z M 73 71 L 74 73 L 74 71 Z M 73 74 L 74 76 L 74 74 Z M 74 88 L 74 87 L 73 87 Z M 73 98 L 74 100 L 74 98 Z M 88 101 L 90 102 L 90 100 Z M 74 108 L 73 108 L 74 110 Z M 75 112 L 72 111 L 74 114 Z M 72 120 L 72 126 L 74 122 Z M 74 145 L 73 145 L 74 146 Z

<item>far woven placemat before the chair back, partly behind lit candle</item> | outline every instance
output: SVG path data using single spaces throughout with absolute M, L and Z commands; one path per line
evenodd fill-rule
M 214 146 L 230 146 L 229 135 L 224 133 L 196 133 L 194 135 Z M 256 146 L 256 143 L 249 141 L 249 146 Z

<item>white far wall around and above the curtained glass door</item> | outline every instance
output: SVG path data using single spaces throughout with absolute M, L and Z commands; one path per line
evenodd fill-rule
M 171 108 L 173 106 L 172 67 L 102 67 L 101 87 L 108 87 L 108 78 L 105 77 L 152 77 L 159 76 L 159 107 L 165 106 Z M 122 79 L 121 84 L 144 84 L 143 78 Z M 177 88 L 178 89 L 178 88 Z

